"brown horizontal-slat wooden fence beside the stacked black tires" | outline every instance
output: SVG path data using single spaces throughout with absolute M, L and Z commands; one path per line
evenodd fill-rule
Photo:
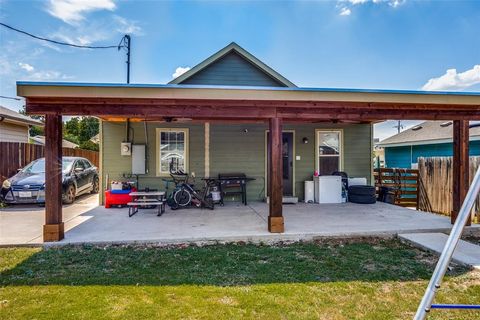
M 396 205 L 418 209 L 418 170 L 377 168 L 373 175 L 377 192 L 380 187 L 392 188 Z

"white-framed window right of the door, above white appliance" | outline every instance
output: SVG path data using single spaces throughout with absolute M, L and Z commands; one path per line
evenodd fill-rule
M 342 170 L 342 131 L 317 130 L 317 170 L 330 175 Z

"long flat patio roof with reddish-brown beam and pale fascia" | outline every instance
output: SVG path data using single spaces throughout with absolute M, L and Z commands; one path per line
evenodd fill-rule
M 480 120 L 480 93 L 18 82 L 31 114 L 105 119 Z

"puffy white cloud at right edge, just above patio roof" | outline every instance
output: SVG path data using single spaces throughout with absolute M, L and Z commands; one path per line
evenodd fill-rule
M 464 72 L 448 69 L 444 75 L 432 78 L 422 87 L 423 90 L 461 90 L 480 83 L 480 64 Z

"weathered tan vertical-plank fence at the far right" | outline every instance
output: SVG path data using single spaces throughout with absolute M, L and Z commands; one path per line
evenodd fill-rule
M 453 186 L 452 157 L 418 158 L 420 173 L 419 209 L 450 216 Z M 470 182 L 480 166 L 480 157 L 470 157 Z M 480 197 L 475 202 L 474 214 L 480 214 Z

